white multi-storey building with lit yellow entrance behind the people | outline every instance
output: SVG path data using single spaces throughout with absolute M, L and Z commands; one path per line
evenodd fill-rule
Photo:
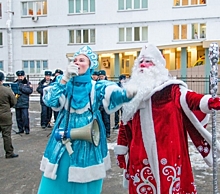
M 201 56 L 208 63 L 210 42 L 220 43 L 219 7 L 219 0 L 0 0 L 0 70 L 65 69 L 90 45 L 109 77 L 129 75 L 150 42 L 185 76 Z

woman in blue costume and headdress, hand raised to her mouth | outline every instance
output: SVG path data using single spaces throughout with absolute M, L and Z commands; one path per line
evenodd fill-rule
M 130 101 L 136 91 L 124 90 L 105 80 L 92 81 L 91 74 L 97 66 L 97 55 L 84 46 L 75 53 L 74 63 L 68 65 L 64 75 L 44 90 L 45 104 L 60 113 L 41 161 L 43 176 L 38 194 L 100 194 L 102 191 L 103 178 L 111 164 L 98 107 L 103 104 L 107 113 L 113 113 Z M 76 139 L 71 140 L 68 149 L 57 138 L 60 129 L 69 134 L 91 123 L 94 117 L 100 128 L 98 146 Z

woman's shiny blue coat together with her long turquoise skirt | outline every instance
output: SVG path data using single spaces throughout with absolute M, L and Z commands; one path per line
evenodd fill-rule
M 43 171 L 43 176 L 38 194 L 91 194 L 91 190 L 93 194 L 100 194 L 102 180 L 106 176 L 106 170 L 110 169 L 111 163 L 105 127 L 98 108 L 103 104 L 106 112 L 110 114 L 130 99 L 126 97 L 126 91 L 113 82 L 91 81 L 89 93 L 93 115 L 100 126 L 100 144 L 96 147 L 88 141 L 74 140 L 71 142 L 74 153 L 69 156 L 65 145 L 55 139 L 55 131 L 58 128 L 65 128 L 67 123 L 69 94 L 74 95 L 73 84 L 69 81 L 66 85 L 62 85 L 59 81 L 60 79 L 44 91 L 45 104 L 60 113 L 41 161 L 40 169 Z M 80 94 L 78 92 L 76 95 L 80 97 Z M 89 101 L 89 95 L 83 97 L 82 101 L 79 100 L 74 105 L 78 108 L 73 108 L 71 102 L 68 130 L 83 127 L 93 120 L 92 113 L 89 111 Z

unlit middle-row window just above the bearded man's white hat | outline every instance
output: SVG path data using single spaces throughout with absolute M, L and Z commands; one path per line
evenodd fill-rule
M 119 28 L 119 42 L 138 42 L 148 40 L 148 28 L 127 27 Z

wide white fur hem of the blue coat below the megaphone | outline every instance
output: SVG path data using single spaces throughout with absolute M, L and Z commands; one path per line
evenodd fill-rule
M 70 167 L 68 182 L 87 183 L 106 177 L 104 163 L 89 166 L 86 168 Z

